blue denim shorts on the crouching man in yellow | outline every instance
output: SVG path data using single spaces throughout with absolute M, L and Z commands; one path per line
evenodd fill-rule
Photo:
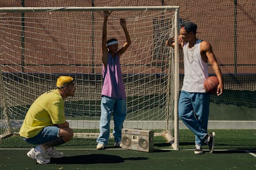
M 43 144 L 59 137 L 59 127 L 47 126 L 44 127 L 36 136 L 31 138 L 23 137 L 30 144 Z

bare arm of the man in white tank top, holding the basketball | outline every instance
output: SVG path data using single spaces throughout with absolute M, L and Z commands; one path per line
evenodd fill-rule
M 220 84 L 218 85 L 217 95 L 221 95 L 224 90 L 222 73 L 221 73 L 221 69 L 218 65 L 218 62 L 216 60 L 216 57 L 214 55 L 214 52 L 212 52 L 212 47 L 209 42 L 202 41 L 200 48 L 201 48 L 201 51 L 205 52 L 206 57 L 207 57 L 209 63 L 212 65 L 212 68 L 214 69 L 214 72 L 219 80 Z

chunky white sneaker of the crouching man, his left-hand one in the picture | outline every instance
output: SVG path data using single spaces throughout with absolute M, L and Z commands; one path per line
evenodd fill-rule
M 36 152 L 34 148 L 32 148 L 28 153 L 28 157 L 33 160 L 36 160 L 39 164 L 45 164 L 50 162 L 50 156 L 46 153 L 46 151 Z

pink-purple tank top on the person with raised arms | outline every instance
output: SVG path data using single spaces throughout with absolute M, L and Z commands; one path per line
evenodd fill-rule
M 117 54 L 112 57 L 109 53 L 106 68 L 104 65 L 102 67 L 102 76 L 103 86 L 101 95 L 106 95 L 116 99 L 126 98 L 120 59 Z

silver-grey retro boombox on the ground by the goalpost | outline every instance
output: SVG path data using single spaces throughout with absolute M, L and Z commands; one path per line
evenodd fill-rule
M 122 129 L 122 148 L 143 152 L 154 151 L 154 131 Z

